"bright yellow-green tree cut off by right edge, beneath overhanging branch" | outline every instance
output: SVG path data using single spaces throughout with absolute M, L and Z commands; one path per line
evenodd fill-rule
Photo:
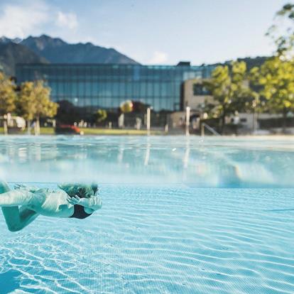
M 258 87 L 258 96 L 263 100 L 263 109 L 283 114 L 283 131 L 286 118 L 294 109 L 294 64 L 281 56 L 267 60 L 260 68 L 253 68 L 251 76 Z

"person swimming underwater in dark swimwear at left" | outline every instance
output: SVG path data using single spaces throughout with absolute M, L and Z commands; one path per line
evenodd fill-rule
M 15 185 L 0 181 L 0 207 L 7 227 L 17 232 L 39 215 L 85 219 L 102 208 L 97 185 L 60 184 L 60 190 Z

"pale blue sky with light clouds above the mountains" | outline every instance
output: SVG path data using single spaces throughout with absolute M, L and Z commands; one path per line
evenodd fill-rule
M 271 55 L 281 0 L 0 0 L 0 36 L 46 33 L 112 47 L 143 64 Z

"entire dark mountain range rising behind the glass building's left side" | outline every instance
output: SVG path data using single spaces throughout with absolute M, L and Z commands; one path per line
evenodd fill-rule
M 24 40 L 0 38 L 0 68 L 15 75 L 16 63 L 116 63 L 138 64 L 113 48 L 92 43 L 69 44 L 60 38 L 28 37 Z M 20 42 L 20 43 L 19 43 Z

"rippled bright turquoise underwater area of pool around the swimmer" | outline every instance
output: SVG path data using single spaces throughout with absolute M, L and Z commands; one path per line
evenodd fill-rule
M 100 187 L 84 220 L 0 217 L 1 293 L 294 293 L 294 189 Z

